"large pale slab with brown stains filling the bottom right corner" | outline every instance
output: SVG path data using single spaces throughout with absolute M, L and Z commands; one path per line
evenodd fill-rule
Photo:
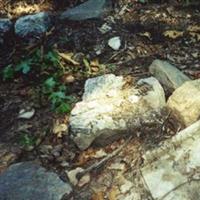
M 142 169 L 154 199 L 200 199 L 200 121 L 147 152 Z

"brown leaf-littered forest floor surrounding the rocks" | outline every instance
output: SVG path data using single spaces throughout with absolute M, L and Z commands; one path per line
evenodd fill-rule
M 49 2 L 18 1 L 17 9 L 16 3 L 0 0 L 0 16 L 15 20 L 27 13 L 60 9 L 60 5 Z M 72 7 L 72 2 L 78 1 L 68 1 L 63 6 Z M 99 30 L 103 24 L 109 25 L 111 31 L 102 34 Z M 87 78 L 105 73 L 131 75 L 138 79 L 147 77 L 149 65 L 157 58 L 174 64 L 192 79 L 200 78 L 199 24 L 200 7 L 197 6 L 119 1 L 104 19 L 58 25 L 36 45 L 11 41 L 8 47 L 0 50 L 3 52 L 0 66 L 3 69 L 7 64 L 16 64 L 27 56 L 34 56 L 37 51 L 44 56 L 50 55 L 49 52 L 67 52 L 61 58 L 52 53 L 51 58 L 59 59 L 65 67 L 61 81 L 68 89 L 67 95 L 73 97 L 69 103 L 73 107 L 83 94 Z M 119 51 L 105 45 L 114 36 L 120 36 L 122 46 Z M 97 55 L 99 50 L 102 52 Z M 38 62 L 42 64 L 43 61 Z M 48 61 L 44 65 L 48 65 Z M 66 131 L 69 112 L 60 114 L 52 110 L 48 96 L 41 92 L 45 74 L 51 75 L 55 71 L 47 69 L 40 71 L 39 75 L 36 72 L 17 74 L 12 80 L 0 80 L 0 171 L 15 162 L 34 160 L 68 180 L 66 171 L 78 167 L 86 169 L 126 143 L 126 139 L 121 139 L 106 147 L 92 146 L 80 151 Z M 33 116 L 20 119 L 19 112 L 23 109 L 33 111 Z M 117 156 L 92 169 L 90 179 L 86 177 L 79 182 L 71 199 L 114 200 L 116 196 L 122 199 L 125 196 L 120 194 L 119 183 L 124 180 L 134 183 L 132 189 L 135 194 L 139 193 L 138 199 L 152 199 L 138 181 L 139 168 L 146 150 L 158 146 L 159 142 L 178 131 L 170 119 L 165 126 L 165 133 L 158 131 L 131 138 Z

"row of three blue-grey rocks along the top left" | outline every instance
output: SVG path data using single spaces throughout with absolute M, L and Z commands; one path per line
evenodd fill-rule
M 81 21 L 99 18 L 110 10 L 110 0 L 88 0 L 74 8 L 64 11 L 56 20 Z M 26 15 L 18 18 L 15 23 L 10 19 L 0 19 L 0 45 L 4 44 L 5 36 L 13 28 L 15 35 L 25 42 L 41 39 L 55 24 L 55 17 L 48 12 Z

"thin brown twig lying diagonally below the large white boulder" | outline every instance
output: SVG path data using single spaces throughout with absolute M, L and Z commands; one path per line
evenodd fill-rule
M 102 166 L 104 163 L 106 163 L 108 160 L 110 160 L 111 158 L 113 158 L 114 156 L 116 156 L 132 139 L 132 136 L 130 136 L 126 142 L 124 144 L 122 144 L 118 149 L 116 149 L 115 151 L 113 151 L 111 154 L 109 154 L 108 156 L 106 156 L 105 158 L 103 158 L 102 160 L 100 160 L 97 163 L 94 163 L 93 165 L 89 166 L 88 168 L 86 168 L 84 171 L 79 172 L 77 174 L 77 179 L 80 180 L 80 178 L 82 176 L 84 176 L 85 174 L 91 172 L 94 169 L 99 168 L 100 166 Z

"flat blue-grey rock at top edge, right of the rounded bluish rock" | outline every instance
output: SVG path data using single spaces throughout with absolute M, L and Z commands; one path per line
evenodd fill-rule
M 79 6 L 63 12 L 61 20 L 86 20 L 101 17 L 110 8 L 110 0 L 88 0 Z

